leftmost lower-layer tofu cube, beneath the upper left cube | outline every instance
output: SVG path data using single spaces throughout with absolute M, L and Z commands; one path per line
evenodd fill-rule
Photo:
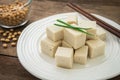
M 48 38 L 41 40 L 41 51 L 51 57 L 54 57 L 58 46 L 62 45 L 62 41 L 52 41 Z

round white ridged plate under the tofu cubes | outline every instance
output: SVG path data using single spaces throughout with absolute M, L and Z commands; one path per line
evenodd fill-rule
M 25 28 L 19 37 L 17 54 L 20 63 L 32 75 L 47 80 L 97 80 L 108 79 L 120 74 L 120 41 L 107 32 L 105 56 L 88 60 L 86 65 L 74 64 L 73 69 L 64 69 L 55 66 L 53 58 L 43 54 L 40 50 L 40 41 L 45 37 L 45 29 L 66 16 L 78 13 L 63 13 L 38 20 Z M 94 16 L 120 28 L 120 25 L 99 15 Z M 79 19 L 85 19 L 78 15 Z

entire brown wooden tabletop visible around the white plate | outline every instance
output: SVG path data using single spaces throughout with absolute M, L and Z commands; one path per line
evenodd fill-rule
M 67 2 L 77 3 L 90 13 L 107 17 L 120 24 L 119 0 L 33 0 L 28 24 L 57 13 L 73 12 L 74 10 L 66 6 Z M 0 80 L 39 80 L 22 67 L 16 54 L 16 47 L 4 49 L 0 42 Z M 120 80 L 120 76 L 110 80 Z

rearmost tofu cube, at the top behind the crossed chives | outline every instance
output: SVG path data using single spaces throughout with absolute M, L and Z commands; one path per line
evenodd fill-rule
M 78 17 L 76 14 L 73 15 L 68 15 L 65 19 L 65 22 L 69 23 L 69 24 L 78 24 Z

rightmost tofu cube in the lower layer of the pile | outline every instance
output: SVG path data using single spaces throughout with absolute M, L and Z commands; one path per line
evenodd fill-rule
M 86 41 L 88 45 L 88 55 L 90 58 L 94 58 L 100 55 L 104 55 L 105 53 L 105 42 L 96 39 L 96 40 L 88 40 Z

